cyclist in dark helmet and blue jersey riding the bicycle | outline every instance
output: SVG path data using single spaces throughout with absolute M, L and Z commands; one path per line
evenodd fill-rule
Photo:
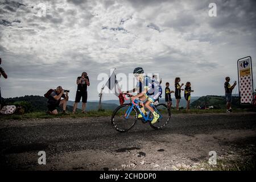
M 151 123 L 154 124 L 156 121 L 158 121 L 159 114 L 156 113 L 156 111 L 150 106 L 150 104 L 154 103 L 155 100 L 157 100 L 158 97 L 162 95 L 162 86 L 160 86 L 157 80 L 152 81 L 150 77 L 144 76 L 143 73 L 144 71 L 141 67 L 135 68 L 133 71 L 133 74 L 138 81 L 136 87 L 138 88 L 138 84 L 139 82 L 141 82 L 143 91 L 136 96 L 131 97 L 131 100 L 135 100 L 137 98 L 139 98 L 140 101 L 147 100 L 145 106 L 154 115 L 154 118 L 151 121 Z M 142 109 L 142 111 L 143 110 L 144 109 Z

